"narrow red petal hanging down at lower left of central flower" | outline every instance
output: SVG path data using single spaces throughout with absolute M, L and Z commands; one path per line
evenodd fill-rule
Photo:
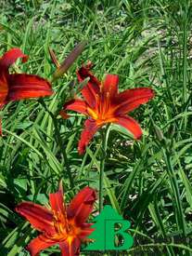
M 79 154 L 84 153 L 86 146 L 88 145 L 89 141 L 92 140 L 98 128 L 99 126 L 96 125 L 96 121 L 94 119 L 87 119 L 84 122 L 84 129 L 78 144 Z

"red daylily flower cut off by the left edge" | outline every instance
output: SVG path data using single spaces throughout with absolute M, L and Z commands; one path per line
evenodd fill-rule
M 38 75 L 8 73 L 8 68 L 19 58 L 22 59 L 22 62 L 28 60 L 27 55 L 24 55 L 19 48 L 8 50 L 0 58 L 0 109 L 9 101 L 19 101 L 53 94 L 48 81 Z

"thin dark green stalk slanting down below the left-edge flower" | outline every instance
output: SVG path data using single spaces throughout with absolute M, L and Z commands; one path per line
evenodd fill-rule
M 56 138 L 56 141 L 59 145 L 61 154 L 63 155 L 63 159 L 65 161 L 65 166 L 66 166 L 67 173 L 68 173 L 69 180 L 70 180 L 70 188 L 73 188 L 74 187 L 74 182 L 73 182 L 73 178 L 72 178 L 72 175 L 71 175 L 71 172 L 70 172 L 70 164 L 69 164 L 69 161 L 68 161 L 68 156 L 67 156 L 65 148 L 64 148 L 64 146 L 62 145 L 62 142 L 61 142 L 62 138 L 60 136 L 60 131 L 59 131 L 59 128 L 58 128 L 58 120 L 55 117 L 55 115 L 47 109 L 45 101 L 43 99 L 39 99 L 39 102 L 42 104 L 42 106 L 45 108 L 45 111 L 51 116 L 51 118 L 53 120 L 53 124 L 54 124 L 55 130 L 56 130 L 55 131 L 55 138 Z

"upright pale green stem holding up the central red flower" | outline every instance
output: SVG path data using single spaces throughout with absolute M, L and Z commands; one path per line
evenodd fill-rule
M 104 180 L 104 170 L 105 162 L 108 148 L 108 138 L 109 138 L 109 125 L 105 130 L 101 131 L 102 144 L 101 144 L 101 155 L 100 160 L 100 173 L 99 173 L 99 212 L 103 209 L 103 180 Z

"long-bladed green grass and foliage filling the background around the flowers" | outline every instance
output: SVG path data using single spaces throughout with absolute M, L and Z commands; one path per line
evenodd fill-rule
M 30 56 L 13 70 L 51 79 L 48 47 L 61 62 L 87 41 L 78 61 L 53 84 L 55 95 L 45 99 L 55 116 L 77 90 L 77 83 L 70 84 L 77 66 L 88 60 L 99 79 L 119 74 L 121 90 L 154 88 L 154 100 L 133 113 L 144 130 L 141 141 L 110 128 L 105 202 L 132 223 L 135 244 L 124 255 L 192 255 L 190 1 L 0 0 L 0 7 L 0 56 L 11 47 Z M 98 189 L 101 141 L 97 133 L 85 155 L 78 155 L 83 116 L 72 113 L 68 120 L 58 115 L 58 143 L 53 119 L 37 100 L 9 103 L 1 116 L 0 255 L 23 256 L 36 233 L 14 207 L 22 200 L 45 204 L 61 178 L 68 201 L 84 185 Z M 58 249 L 42 255 L 53 251 L 60 255 Z

